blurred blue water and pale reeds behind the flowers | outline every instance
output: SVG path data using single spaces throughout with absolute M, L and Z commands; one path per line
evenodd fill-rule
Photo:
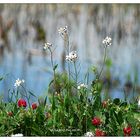
M 64 43 L 59 27 L 68 26 L 71 50 L 81 63 L 79 81 L 90 66 L 99 69 L 103 59 L 102 40 L 112 38 L 108 58 L 112 66 L 104 72 L 111 98 L 124 98 L 140 78 L 140 5 L 139 4 L 0 4 L 0 94 L 7 100 L 8 89 L 17 78 L 37 96 L 46 93 L 52 78 L 50 55 L 42 51 L 48 41 L 56 47 L 54 58 L 64 67 Z M 90 81 L 93 75 L 90 75 Z M 119 82 L 119 86 L 116 86 Z M 131 95 L 130 95 L 131 96 Z

